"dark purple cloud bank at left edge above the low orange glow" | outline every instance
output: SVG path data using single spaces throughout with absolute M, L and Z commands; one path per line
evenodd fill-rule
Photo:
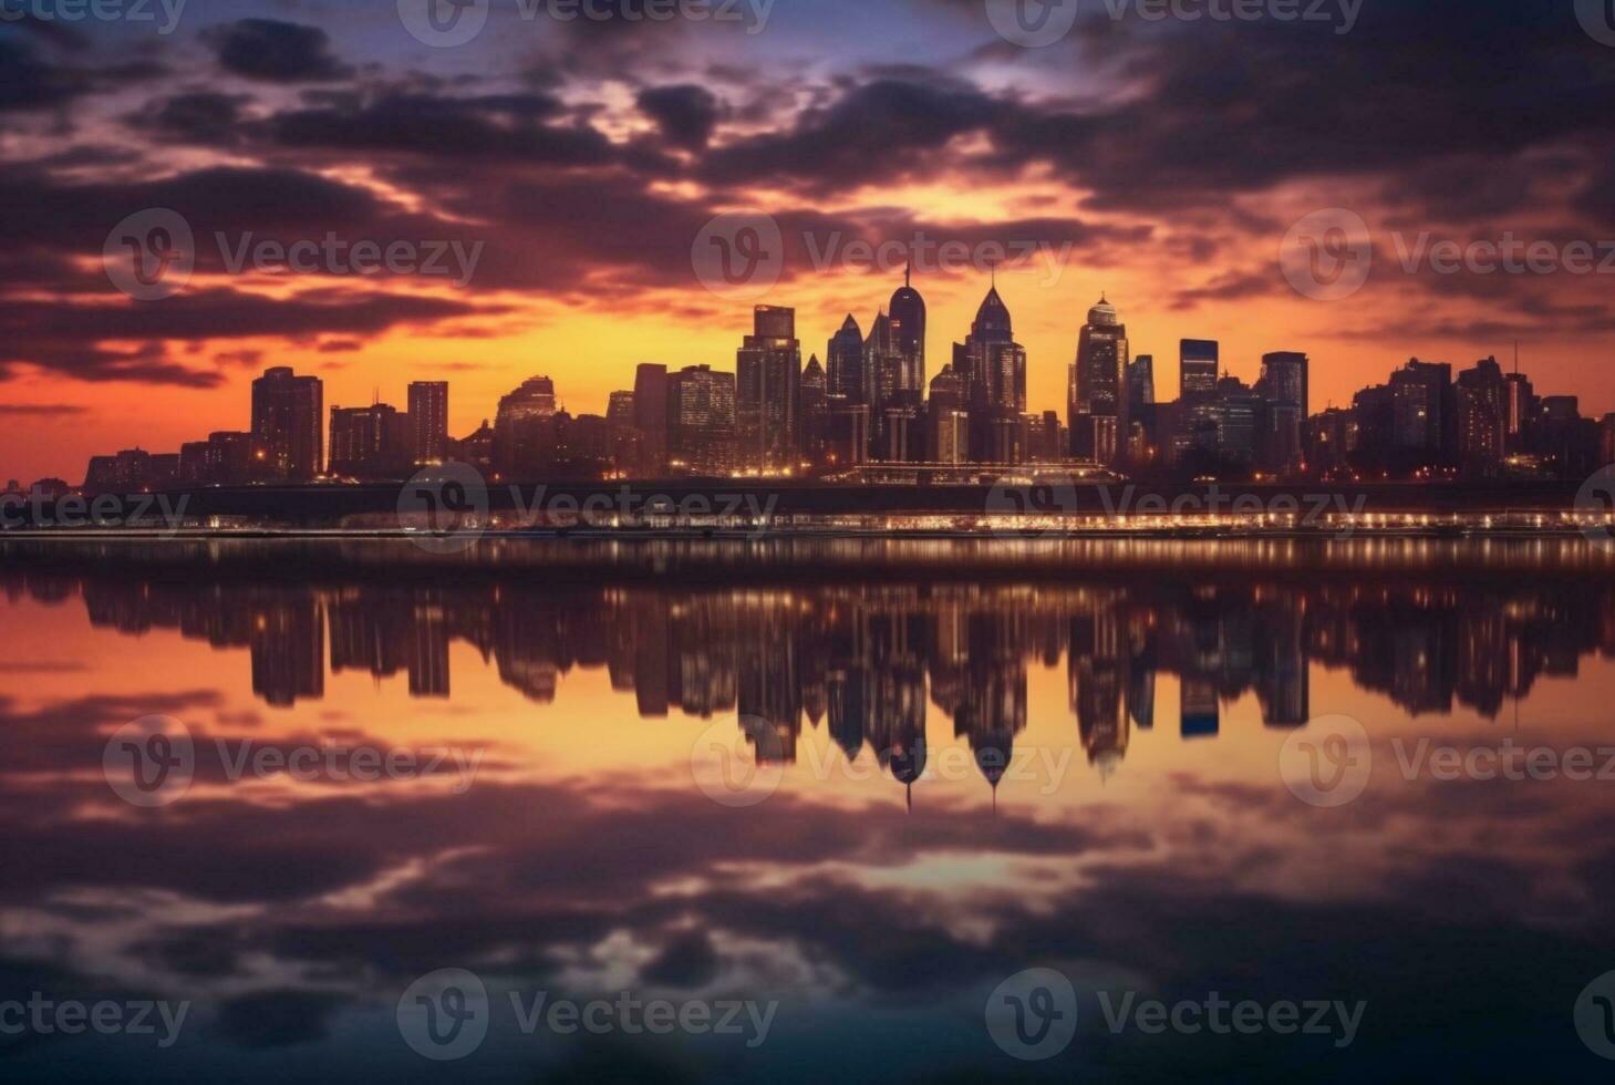
M 39 171 L 0 178 L 0 202 L 27 207 L 0 223 L 0 266 L 31 262 L 48 270 L 34 287 L 55 283 L 57 295 L 15 297 L 0 307 L 0 378 L 19 363 L 45 367 L 86 381 L 136 381 L 213 388 L 221 375 L 166 357 L 166 341 L 241 337 L 375 336 L 399 325 L 431 325 L 497 307 L 464 299 L 391 294 L 381 289 L 342 292 L 304 289 L 268 297 L 192 284 L 160 304 L 136 305 L 94 270 L 73 266 L 76 253 L 99 260 L 108 231 L 126 215 L 173 208 L 195 236 L 199 273 L 224 273 L 226 252 L 242 239 L 320 241 L 328 232 L 349 241 L 425 242 L 475 237 L 423 215 L 383 203 L 365 189 L 297 170 L 213 168 L 160 181 L 71 184 Z M 224 249 L 216 234 L 224 234 Z M 305 276 L 308 286 L 321 284 Z M 10 279 L 10 284 L 19 283 Z M 0 294 L 5 286 L 0 286 Z M 97 302 L 97 304 L 90 304 Z M 110 347 L 137 342 L 134 349 Z

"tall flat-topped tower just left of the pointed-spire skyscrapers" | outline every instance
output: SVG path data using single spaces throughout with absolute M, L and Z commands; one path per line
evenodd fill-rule
M 796 310 L 757 305 L 753 334 L 736 354 L 736 425 L 741 467 L 793 470 L 801 457 L 796 407 L 803 371 Z

